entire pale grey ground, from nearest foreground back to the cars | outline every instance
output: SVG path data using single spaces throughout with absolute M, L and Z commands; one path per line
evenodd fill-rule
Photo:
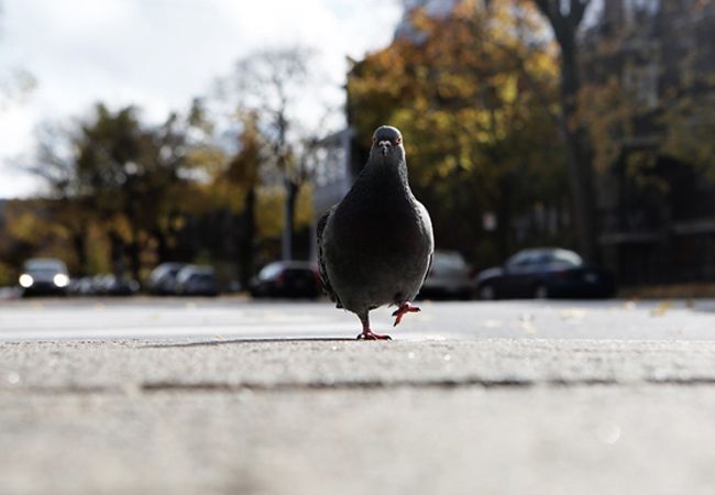
M 713 493 L 712 301 L 422 308 L 4 301 L 0 494 Z

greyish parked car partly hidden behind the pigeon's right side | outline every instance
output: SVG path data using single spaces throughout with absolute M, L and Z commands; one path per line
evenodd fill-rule
M 420 297 L 469 299 L 472 295 L 470 267 L 455 251 L 435 251 L 432 266 L 419 293 Z

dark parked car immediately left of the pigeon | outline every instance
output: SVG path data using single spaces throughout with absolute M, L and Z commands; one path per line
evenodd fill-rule
M 251 280 L 253 297 L 309 297 L 320 295 L 318 268 L 309 262 L 271 263 Z

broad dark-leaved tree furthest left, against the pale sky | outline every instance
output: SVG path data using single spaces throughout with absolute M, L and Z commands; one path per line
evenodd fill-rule
M 166 256 L 174 219 L 186 211 L 185 124 L 176 114 L 147 128 L 139 111 L 98 105 L 95 114 L 68 131 L 47 131 L 29 170 L 48 187 L 53 218 L 70 232 L 80 272 L 88 266 L 87 235 L 100 226 L 110 245 L 112 271 L 124 258 L 141 277 L 143 253 Z

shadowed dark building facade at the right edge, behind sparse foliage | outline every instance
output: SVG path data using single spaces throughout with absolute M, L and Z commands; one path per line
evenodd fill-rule
M 596 186 L 604 261 L 625 285 L 715 282 L 715 147 L 673 147 L 715 129 L 715 2 L 604 0 L 583 55 L 585 84 L 617 77 L 635 109 Z

